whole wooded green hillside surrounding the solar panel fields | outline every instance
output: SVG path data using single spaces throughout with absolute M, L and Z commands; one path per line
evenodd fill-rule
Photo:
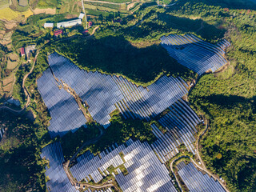
M 149 86 L 165 74 L 181 77 L 189 85 L 192 85 L 191 82 L 196 82 L 191 89 L 189 88 L 189 93 L 184 98 L 188 98 L 190 106 L 200 118 L 204 117 L 209 122 L 207 125 L 209 128 L 199 142 L 199 153 L 207 169 L 223 178 L 232 192 L 255 191 L 256 6 L 254 2 L 249 0 L 160 2 L 160 4 L 177 3 L 166 7 L 156 6 L 152 2 L 138 2 L 137 5 L 136 2 L 130 10 L 127 10 L 130 2 L 126 3 L 122 0 L 104 2 L 125 4 L 86 1 L 86 13 L 90 14 L 90 21 L 94 23 L 94 26 L 89 28 L 88 34 L 82 33 L 86 26 L 83 21 L 82 26 L 63 29 L 63 34 L 55 37 L 55 28 L 44 29 L 43 23 L 77 17 L 82 10 L 80 1 L 75 3 L 74 1 L 30 1 L 33 10 L 50 8 L 57 14 L 42 13 L 30 16 L 26 22 L 14 27 L 15 30 L 11 32 L 11 38 L 9 37 L 11 47 L 1 46 L 1 69 L 3 69 L 1 104 L 6 100 L 3 94 L 10 94 L 12 90 L 10 85 L 14 85 L 13 93 L 8 96 L 17 98 L 24 106 L 26 98 L 22 90 L 22 78 L 30 70 L 31 65 L 29 63 L 22 65 L 26 60 L 18 56 L 18 49 L 21 46 L 36 44 L 40 52 L 33 73 L 26 80 L 26 89 L 29 90 L 31 97 L 30 106 L 19 117 L 13 118 L 14 115 L 9 112 L 0 114 L 0 124 L 8 128 L 0 142 L 0 168 L 3 170 L 0 190 L 46 191 L 48 179 L 44 170 L 46 162 L 39 157 L 42 148 L 58 141 L 67 160 L 83 143 L 99 135 L 95 127 L 102 126 L 94 122 L 88 123 L 87 130 L 80 127 L 74 134 L 69 132 L 63 138 L 50 139 L 47 130 L 50 114 L 38 92 L 37 79 L 48 67 L 47 55 L 56 51 L 82 69 L 121 75 L 137 86 Z M 16 4 L 14 6 L 19 7 Z M 2 7 L 5 5 L 3 3 Z M 21 11 L 15 7 L 12 8 L 13 11 Z M 133 12 L 134 7 L 138 10 Z M 1 25 L 5 27 L 4 22 Z M 90 36 L 96 26 L 98 30 Z M 161 46 L 160 38 L 169 34 L 193 34 L 214 45 L 225 38 L 231 43 L 224 56 L 229 62 L 217 72 L 207 71 L 206 74 L 198 77 L 198 74 L 171 58 Z M 18 109 L 18 106 L 15 109 Z M 33 115 L 28 114 L 28 111 Z M 163 111 L 151 122 L 146 122 L 124 119 L 121 114 L 114 111 L 114 114 L 111 114 L 111 126 L 104 130 L 102 141 L 86 147 L 78 155 L 88 149 L 98 154 L 115 142 L 119 145 L 129 138 L 151 144 L 155 138 L 150 125 L 168 112 L 170 109 Z M 166 132 L 165 128 L 160 127 L 160 129 L 162 133 Z M 197 129 L 199 132 L 202 127 L 199 125 Z M 179 150 L 186 151 L 184 152 L 186 155 L 195 158 L 195 155 L 182 147 L 179 146 Z M 5 178 L 8 178 L 7 182 L 2 182 Z M 175 185 L 178 186 L 177 183 Z

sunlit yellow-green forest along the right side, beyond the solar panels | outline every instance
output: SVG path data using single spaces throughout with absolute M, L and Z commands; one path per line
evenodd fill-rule
M 256 189 L 255 102 L 255 11 L 223 10 L 207 3 L 188 2 L 187 17 L 200 16 L 210 22 L 219 18 L 233 49 L 230 66 L 221 73 L 200 78 L 189 99 L 210 119 L 210 130 L 202 139 L 202 157 L 214 173 L 224 178 L 231 191 Z M 196 9 L 194 9 L 196 8 Z M 209 10 L 209 11 L 208 11 Z M 235 16 L 234 16 L 235 15 Z

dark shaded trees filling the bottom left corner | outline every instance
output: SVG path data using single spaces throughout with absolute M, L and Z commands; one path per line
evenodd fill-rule
M 25 116 L 18 118 L 9 112 L 0 113 L 0 122 L 7 128 L 0 142 L 0 190 L 45 190 L 44 165 L 38 161 L 39 140 L 35 134 L 38 126 Z

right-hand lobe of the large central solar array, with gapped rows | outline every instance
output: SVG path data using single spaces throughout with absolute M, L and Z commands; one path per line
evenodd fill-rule
M 147 90 L 141 86 L 137 88 L 124 78 L 114 79 L 124 94 L 117 106 L 125 118 L 150 120 L 187 93 L 179 78 L 163 76 L 147 86 Z

